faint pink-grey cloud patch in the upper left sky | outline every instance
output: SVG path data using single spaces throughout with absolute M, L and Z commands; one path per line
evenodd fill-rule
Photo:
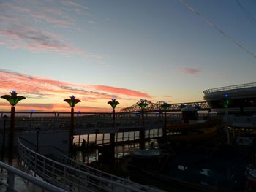
M 89 53 L 79 47 L 71 45 L 64 40 L 64 37 L 55 34 L 45 28 L 39 28 L 31 21 L 50 24 L 53 27 L 64 27 L 67 30 L 78 30 L 75 26 L 76 20 L 70 12 L 69 8 L 86 9 L 86 7 L 79 6 L 75 1 L 62 1 L 65 5 L 53 7 L 42 3 L 42 1 L 29 1 L 24 3 L 19 1 L 4 2 L 0 6 L 0 45 L 7 46 L 11 49 L 26 49 L 33 52 L 56 52 L 65 55 L 76 54 L 86 58 L 94 58 L 98 61 L 104 59 L 101 55 Z M 54 7 L 55 6 L 55 7 Z M 62 8 L 64 8 L 62 10 Z

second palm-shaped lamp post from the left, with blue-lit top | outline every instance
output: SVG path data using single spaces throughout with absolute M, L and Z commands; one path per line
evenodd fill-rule
M 71 118 L 70 118 L 70 132 L 69 132 L 69 152 L 72 154 L 73 139 L 74 139 L 74 107 L 80 102 L 79 99 L 75 99 L 75 96 L 70 96 L 70 99 L 64 99 L 71 107 Z

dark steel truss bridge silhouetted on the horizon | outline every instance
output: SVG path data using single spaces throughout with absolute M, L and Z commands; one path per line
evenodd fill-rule
M 143 100 L 138 101 L 137 103 L 133 104 L 130 107 L 121 109 L 121 112 L 138 112 L 138 111 L 140 111 L 140 107 L 138 106 L 138 104 L 141 101 L 143 101 Z M 161 111 L 162 110 L 161 105 L 165 103 L 164 101 L 157 101 L 157 103 L 153 103 L 148 100 L 146 100 L 145 102 L 148 104 L 146 107 L 146 111 L 148 111 L 148 112 Z M 210 110 L 210 107 L 208 106 L 208 103 L 206 101 L 199 101 L 199 102 L 170 104 L 170 106 L 167 108 L 167 112 L 181 111 L 181 108 L 185 107 L 187 105 L 192 105 L 193 107 L 197 108 L 197 110 L 201 110 L 201 111 Z

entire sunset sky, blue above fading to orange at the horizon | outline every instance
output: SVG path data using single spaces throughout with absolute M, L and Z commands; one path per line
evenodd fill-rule
M 71 95 L 82 112 L 203 101 L 256 82 L 255 34 L 254 0 L 0 0 L 0 94 L 26 111 L 67 111 Z

